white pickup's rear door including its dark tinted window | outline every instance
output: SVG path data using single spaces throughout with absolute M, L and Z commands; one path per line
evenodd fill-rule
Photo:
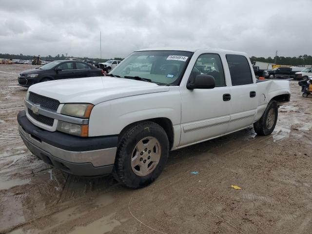
M 226 55 L 232 86 L 231 115 L 227 132 L 245 128 L 254 122 L 257 110 L 257 85 L 252 76 L 251 64 L 243 55 Z

